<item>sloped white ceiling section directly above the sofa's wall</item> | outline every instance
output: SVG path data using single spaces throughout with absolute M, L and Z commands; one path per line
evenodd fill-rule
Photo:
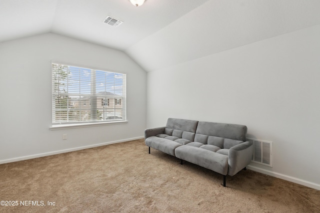
M 208 0 L 125 52 L 156 71 L 320 24 L 318 0 Z

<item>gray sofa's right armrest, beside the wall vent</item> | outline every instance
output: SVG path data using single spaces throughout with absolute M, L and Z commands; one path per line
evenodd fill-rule
M 252 153 L 253 143 L 250 141 L 231 147 L 228 154 L 228 175 L 233 176 L 246 167 L 251 162 Z

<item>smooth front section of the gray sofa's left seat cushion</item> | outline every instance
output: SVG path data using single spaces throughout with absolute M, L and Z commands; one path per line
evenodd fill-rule
M 177 142 L 174 142 L 165 138 L 159 138 L 156 136 L 148 137 L 145 140 L 145 144 L 148 147 L 152 147 L 153 149 L 160 150 L 161 152 L 164 152 L 172 156 L 175 156 L 174 149 L 179 146 L 182 146 Z

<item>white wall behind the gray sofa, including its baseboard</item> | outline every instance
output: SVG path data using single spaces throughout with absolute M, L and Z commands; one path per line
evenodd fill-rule
M 273 142 L 251 169 L 320 190 L 320 25 L 147 73 L 147 127 L 168 117 L 244 124 Z

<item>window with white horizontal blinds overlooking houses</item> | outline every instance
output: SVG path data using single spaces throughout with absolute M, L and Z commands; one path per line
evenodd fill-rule
M 126 120 L 126 75 L 52 63 L 52 125 Z

